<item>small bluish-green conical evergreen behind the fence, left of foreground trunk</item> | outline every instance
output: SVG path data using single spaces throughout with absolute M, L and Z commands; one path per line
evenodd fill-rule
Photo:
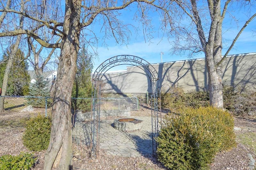
M 32 105 L 36 108 L 44 108 L 45 107 L 45 98 L 50 96 L 50 91 L 47 88 L 48 83 L 46 80 L 44 80 L 44 77 L 39 76 L 36 79 L 35 83 L 32 83 L 29 88 L 29 96 L 34 96 L 31 98 L 27 98 L 27 104 Z M 42 98 L 36 98 L 36 97 L 42 97 Z M 47 106 L 51 105 L 50 99 L 47 99 Z

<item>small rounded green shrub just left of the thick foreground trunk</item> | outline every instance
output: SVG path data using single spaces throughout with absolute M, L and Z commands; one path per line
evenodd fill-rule
M 30 150 L 40 151 L 46 150 L 51 133 L 51 119 L 50 117 L 31 118 L 26 123 L 26 130 L 22 137 L 23 144 Z

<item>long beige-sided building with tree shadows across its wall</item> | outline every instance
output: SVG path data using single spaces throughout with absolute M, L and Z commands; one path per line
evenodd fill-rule
M 191 59 L 152 64 L 158 72 L 162 91 L 171 86 L 184 91 L 208 89 L 205 59 Z M 256 83 L 256 53 L 228 56 L 222 64 L 223 83 L 234 87 L 250 87 Z M 144 94 L 151 93 L 150 80 L 143 67 L 127 67 L 126 71 L 105 73 L 103 93 Z

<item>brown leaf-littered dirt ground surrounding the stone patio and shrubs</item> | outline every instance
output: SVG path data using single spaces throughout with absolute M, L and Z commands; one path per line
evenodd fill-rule
M 25 121 L 29 117 L 37 114 L 44 114 L 44 109 L 35 109 L 33 113 L 17 112 L 8 109 L 5 113 L 0 113 L 0 156 L 4 154 L 17 155 L 20 152 L 30 152 L 22 144 L 22 133 L 25 128 Z M 146 108 L 140 111 L 132 112 L 132 116 L 150 116 Z M 236 135 L 246 132 L 256 133 L 255 117 L 234 117 L 236 127 L 242 130 L 235 131 Z M 255 158 L 255 150 L 240 142 L 237 138 L 237 147 L 227 152 L 220 152 L 214 158 L 211 164 L 211 170 L 247 170 L 250 159 L 247 154 L 250 153 Z M 104 150 L 100 150 L 98 158 L 89 158 L 87 146 L 73 144 L 74 157 L 72 160 L 72 169 L 74 170 L 163 170 L 165 169 L 151 155 L 146 157 L 123 158 L 120 156 L 107 155 Z M 44 164 L 44 153 L 31 152 L 38 161 L 33 170 L 42 170 Z

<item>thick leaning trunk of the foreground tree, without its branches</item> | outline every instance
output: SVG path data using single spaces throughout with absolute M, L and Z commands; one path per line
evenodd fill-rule
M 80 0 L 66 0 L 58 75 L 52 106 L 50 144 L 44 170 L 68 170 L 72 160 L 71 93 L 76 73 L 80 35 Z

